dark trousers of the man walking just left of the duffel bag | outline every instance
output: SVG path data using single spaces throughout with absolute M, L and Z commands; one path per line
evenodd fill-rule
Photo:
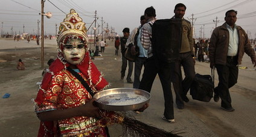
M 182 80 L 181 65 L 184 69 L 184 80 Z M 196 75 L 196 72 L 194 71 L 194 61 L 191 53 L 180 53 L 179 59 L 175 62 L 172 77 L 177 106 L 184 106 L 183 98 L 187 95 L 187 92 L 193 83 L 194 75 Z

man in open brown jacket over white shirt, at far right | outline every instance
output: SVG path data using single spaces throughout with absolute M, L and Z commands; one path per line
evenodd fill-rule
M 221 108 L 234 111 L 231 106 L 229 88 L 237 83 L 238 65 L 242 62 L 243 54 L 251 57 L 256 66 L 254 49 L 249 42 L 245 30 L 237 26 L 237 11 L 229 10 L 225 14 L 225 23 L 214 29 L 210 39 L 209 57 L 210 67 L 216 68 L 219 75 L 219 84 L 214 88 L 214 101 L 222 99 Z

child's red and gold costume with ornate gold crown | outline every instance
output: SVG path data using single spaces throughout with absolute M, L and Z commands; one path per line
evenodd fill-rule
M 81 82 L 66 70 L 70 64 L 63 57 L 63 45 L 68 39 L 81 39 L 87 48 L 85 23 L 73 9 L 60 25 L 57 38 L 58 57 L 51 64 L 50 71 L 43 77 L 42 85 L 34 100 L 36 113 L 82 106 L 92 98 Z M 92 63 L 87 50 L 83 61 L 76 66 L 80 71 L 78 74 L 82 75 L 92 92 L 107 87 L 107 81 Z M 122 120 L 115 112 L 101 111 L 101 119 L 74 116 L 58 121 L 41 121 L 38 136 L 106 136 L 104 127 L 120 123 Z

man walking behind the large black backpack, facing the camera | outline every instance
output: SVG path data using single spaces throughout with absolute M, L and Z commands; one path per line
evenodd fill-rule
M 176 104 L 178 109 L 184 109 L 184 101 L 188 102 L 187 92 L 193 82 L 194 75 L 194 49 L 192 28 L 189 21 L 183 18 L 187 7 L 182 4 L 176 4 L 174 7 L 174 16 L 172 19 L 182 19 L 182 42 L 179 52 L 179 59 L 175 61 L 173 88 L 176 94 Z M 184 69 L 185 78 L 182 80 L 181 65 Z

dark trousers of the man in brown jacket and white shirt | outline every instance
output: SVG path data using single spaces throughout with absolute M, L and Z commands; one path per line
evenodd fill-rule
M 214 92 L 222 99 L 222 107 L 232 107 L 229 88 L 237 83 L 237 57 L 234 57 L 233 59 L 228 57 L 226 60 L 226 65 L 216 65 L 216 69 L 219 75 L 219 84 L 214 89 Z

